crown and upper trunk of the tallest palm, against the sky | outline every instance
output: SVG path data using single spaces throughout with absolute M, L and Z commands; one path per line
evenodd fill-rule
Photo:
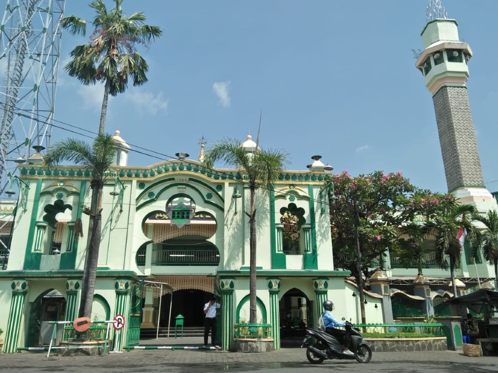
M 74 48 L 71 51 L 73 59 L 64 68 L 71 77 L 78 78 L 86 86 L 105 82 L 100 135 L 104 134 L 109 94 L 116 96 L 126 91 L 128 76 L 132 78 L 133 86 L 147 82 L 145 73 L 149 68 L 135 45 L 148 45 L 162 35 L 159 27 L 144 24 L 143 13 L 124 15 L 122 2 L 115 0 L 116 7 L 111 11 L 108 11 L 103 0 L 90 3 L 96 13 L 92 21 L 92 40 Z M 64 17 L 61 25 L 73 35 L 86 33 L 86 21 L 74 15 Z

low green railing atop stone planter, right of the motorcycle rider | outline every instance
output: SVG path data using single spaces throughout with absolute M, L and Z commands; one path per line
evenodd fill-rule
M 427 324 L 356 324 L 365 338 L 429 338 L 444 337 L 443 325 Z

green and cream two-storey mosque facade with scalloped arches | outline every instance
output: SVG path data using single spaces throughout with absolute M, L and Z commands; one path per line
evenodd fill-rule
M 140 329 L 158 323 L 174 329 L 179 314 L 184 327 L 202 326 L 203 305 L 216 294 L 220 342 L 232 349 L 234 324 L 249 320 L 243 170 L 204 168 L 204 144 L 199 160 L 177 153 L 177 159 L 129 167 L 129 146 L 119 131 L 114 138 L 120 151 L 104 187 L 92 319 L 123 315 L 123 348 L 139 343 Z M 241 146 L 256 149 L 250 136 Z M 48 321 L 74 320 L 81 296 L 90 173 L 78 166 L 47 169 L 39 159 L 35 154 L 19 166 L 10 255 L 0 271 L 6 353 L 48 344 Z M 360 312 L 352 297 L 357 287 L 332 260 L 325 182 L 331 169 L 315 156 L 306 171 L 282 173 L 274 190 L 257 190 L 257 318 L 271 324 L 275 348 L 288 314 L 293 324 L 313 325 L 327 298 L 339 316 L 355 319 Z M 367 299 L 369 320 L 383 321 L 382 295 L 367 293 Z

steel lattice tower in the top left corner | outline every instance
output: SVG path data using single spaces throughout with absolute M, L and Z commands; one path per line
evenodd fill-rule
M 0 25 L 0 194 L 30 148 L 47 148 L 65 0 L 7 0 Z

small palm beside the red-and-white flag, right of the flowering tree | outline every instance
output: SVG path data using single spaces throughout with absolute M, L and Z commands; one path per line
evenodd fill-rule
M 477 242 L 477 229 L 469 219 L 476 214 L 477 209 L 470 204 L 455 204 L 441 209 L 439 214 L 433 216 L 427 226 L 435 231 L 436 259 L 443 270 L 448 269 L 446 257 L 450 260 L 451 283 L 454 296 L 457 296 L 455 283 L 455 267 L 460 266 L 462 244 L 458 237 L 465 232 L 465 240 L 471 245 Z

